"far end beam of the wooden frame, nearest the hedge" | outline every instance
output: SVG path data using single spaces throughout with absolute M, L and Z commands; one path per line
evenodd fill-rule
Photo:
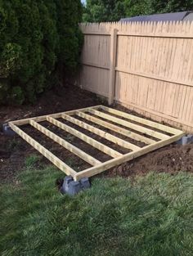
M 86 112 L 89 109 L 98 109 L 100 107 L 99 106 L 89 106 L 83 109 L 79 109 L 79 111 L 83 111 Z M 56 113 L 56 114 L 52 114 L 49 115 L 55 119 L 59 119 L 61 117 L 61 114 L 65 113 L 66 115 L 74 115 L 74 113 L 77 110 L 70 110 L 70 111 L 65 111 L 65 112 L 61 112 L 61 113 Z M 9 124 L 16 124 L 16 125 L 25 125 L 25 124 L 29 124 L 29 120 L 34 120 L 36 122 L 43 122 L 47 119 L 47 115 L 41 115 L 41 116 L 37 116 L 37 117 L 31 117 L 29 119 L 20 119 L 20 120 L 16 120 L 16 121 L 10 121 Z

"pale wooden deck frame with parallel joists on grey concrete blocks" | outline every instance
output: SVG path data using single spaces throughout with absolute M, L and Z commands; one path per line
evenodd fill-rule
M 99 124 L 102 128 L 107 128 L 110 131 L 114 131 L 125 137 L 132 138 L 132 140 L 144 142 L 147 146 L 140 147 L 131 142 L 125 141 L 120 137 L 110 134 L 110 132 L 105 132 L 101 128 L 96 128 L 95 126 L 92 126 L 87 122 L 77 119 L 76 117 L 74 117 L 74 115 L 81 117 L 85 121 L 88 120 L 93 124 Z M 127 154 L 122 154 L 118 150 L 113 150 L 109 146 L 105 146 L 105 144 L 96 141 L 92 137 L 84 134 L 83 132 L 79 132 L 77 129 L 72 128 L 71 126 L 57 120 L 59 118 L 67 120 L 72 124 L 76 124 L 80 128 L 83 128 L 100 137 L 103 137 L 106 140 L 113 142 L 114 144 L 127 148 L 131 150 L 131 152 Z M 95 159 L 91 155 L 88 155 L 88 153 L 80 150 L 76 146 L 73 146 L 70 142 L 65 141 L 65 139 L 57 136 L 54 132 L 51 132 L 49 129 L 39 124 L 40 122 L 46 120 L 49 123 L 56 125 L 56 127 L 65 130 L 65 132 L 69 132 L 75 137 L 78 137 L 79 139 L 85 141 L 89 145 L 96 147 L 96 149 L 101 150 L 101 152 L 105 153 L 106 155 L 110 155 L 112 159 L 102 163 L 100 160 Z M 114 124 L 112 124 L 112 122 Z M 83 159 L 88 164 L 91 164 L 92 167 L 87 168 L 79 173 L 75 172 L 73 168 L 70 168 L 70 166 L 65 164 L 58 157 L 56 157 L 56 155 L 53 155 L 52 152 L 50 152 L 44 146 L 38 143 L 38 141 L 35 141 L 26 132 L 21 130 L 19 127 L 24 124 L 29 124 L 34 128 L 38 129 L 38 131 L 43 132 L 44 135 L 63 146 L 66 150 L 70 150 L 70 152 L 72 152 L 74 155 L 79 156 L 79 158 Z M 176 128 L 171 128 L 167 125 L 143 119 L 137 117 L 136 115 L 130 115 L 123 111 L 114 110 L 106 106 L 92 106 L 80 110 L 71 110 L 52 115 L 43 115 L 29 119 L 21 119 L 11 121 L 9 122 L 9 125 L 13 131 L 19 134 L 20 137 L 27 141 L 31 146 L 34 146 L 36 150 L 38 150 L 42 155 L 44 155 L 53 164 L 55 164 L 57 168 L 60 168 L 61 171 L 63 171 L 67 175 L 71 175 L 72 177 L 74 177 L 75 181 L 79 180 L 82 177 L 92 177 L 93 175 L 101 173 L 106 169 L 114 167 L 115 165 L 122 164 L 123 162 L 135 159 L 140 155 L 145 155 L 152 150 L 156 150 L 162 146 L 166 146 L 173 141 L 177 141 L 184 134 L 184 132 Z M 132 131 L 129 130 L 130 128 L 132 129 Z

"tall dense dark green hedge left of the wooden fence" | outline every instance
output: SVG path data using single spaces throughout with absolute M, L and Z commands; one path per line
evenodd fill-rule
M 0 104 L 34 102 L 74 70 L 81 16 L 80 0 L 0 0 Z

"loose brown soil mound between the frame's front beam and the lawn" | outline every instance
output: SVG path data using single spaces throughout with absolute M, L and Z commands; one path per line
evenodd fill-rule
M 193 144 L 164 146 L 116 168 L 111 168 L 103 175 L 129 177 L 150 171 L 172 174 L 180 171 L 193 173 Z

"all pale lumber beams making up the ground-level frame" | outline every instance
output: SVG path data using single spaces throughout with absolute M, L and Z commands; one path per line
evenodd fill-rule
M 132 124 L 132 123 L 130 123 L 128 121 L 125 121 L 123 119 L 116 118 L 113 115 L 108 115 L 108 114 L 105 114 L 103 112 L 97 111 L 96 109 L 99 109 L 99 108 L 101 108 L 103 110 L 106 110 L 107 112 L 112 113 L 114 115 L 122 116 L 126 119 L 131 119 L 132 121 L 138 121 L 138 123 L 140 123 L 140 124 L 149 125 L 150 128 L 151 127 L 159 128 L 159 129 L 163 129 L 163 131 L 167 131 L 169 133 L 170 132 L 175 132 L 175 134 L 172 137 L 166 136 L 165 134 L 162 134 L 160 132 L 155 132 L 155 131 L 153 131 L 149 128 L 145 128 L 145 127 L 139 126 L 137 124 Z M 83 111 L 83 112 L 81 112 L 81 111 Z M 92 115 L 87 115 L 87 114 L 84 113 L 84 112 L 89 112 L 89 113 L 92 113 L 94 115 L 98 115 L 103 119 L 107 119 L 107 120 L 110 120 L 110 121 L 112 120 L 114 123 L 121 124 L 121 125 L 129 127 L 129 128 L 137 129 L 137 131 L 149 134 L 150 136 L 159 137 L 159 138 L 163 137 L 163 138 L 161 139 L 161 141 L 151 140 L 150 145 L 144 146 L 143 148 L 137 147 L 137 148 L 134 149 L 134 151 L 123 155 L 123 154 L 119 153 L 118 151 L 113 150 L 108 146 L 105 146 L 104 144 L 100 143 L 99 141 L 94 140 L 92 137 L 88 137 L 83 132 L 79 132 L 78 130 L 76 130 L 74 128 L 71 128 L 70 126 L 68 126 L 66 124 L 63 124 L 60 121 L 54 119 L 52 117 L 53 115 L 50 115 L 50 116 L 48 115 L 46 117 L 48 122 L 50 122 L 50 123 L 56 125 L 57 127 L 65 130 L 65 132 L 70 132 L 70 134 L 74 135 L 75 137 L 79 137 L 79 139 L 85 141 L 86 143 L 90 144 L 91 146 L 96 147 L 98 150 L 101 150 L 105 154 L 110 155 L 114 158 L 114 159 L 110 159 L 110 160 L 106 161 L 105 163 L 101 163 L 97 159 L 93 158 L 91 155 L 88 155 L 87 153 L 83 152 L 83 150 L 80 150 L 79 148 L 70 144 L 68 141 L 65 141 L 61 137 L 57 136 L 54 132 L 51 132 L 47 128 L 44 128 L 42 125 L 38 124 L 34 119 L 28 119 L 28 122 L 29 122 L 28 124 L 31 124 L 34 128 L 37 128 L 40 132 L 43 132 L 43 134 L 45 134 L 47 137 L 50 137 L 53 141 L 56 141 L 61 146 L 64 146 L 67 150 L 70 150 L 75 155 L 78 155 L 80 158 L 87 161 L 89 164 L 93 165 L 92 168 L 88 168 L 86 170 L 83 170 L 80 173 L 76 173 L 73 168 L 70 168 L 70 166 L 68 166 L 67 164 L 62 162 L 61 159 L 57 158 L 56 155 L 53 155 L 52 152 L 50 152 L 45 147 L 43 147 L 40 143 L 38 143 L 38 141 L 35 141 L 27 133 L 23 132 L 20 128 L 18 128 L 15 124 L 13 124 L 13 122 L 9 122 L 9 125 L 10 125 L 10 127 L 12 128 L 13 131 L 15 131 L 16 133 L 18 133 L 20 135 L 20 137 L 25 139 L 25 141 L 28 141 L 31 146 L 34 146 L 34 148 L 36 150 L 38 150 L 42 155 L 44 155 L 53 164 L 55 164 L 56 167 L 60 168 L 64 173 L 74 177 L 75 180 L 79 180 L 81 177 L 92 177 L 93 175 L 95 175 L 97 173 L 101 173 L 101 172 L 105 171 L 108 168 L 114 167 L 117 164 L 122 164 L 123 162 L 126 162 L 130 159 L 135 159 L 140 155 L 145 155 L 146 153 L 148 153 L 152 150 L 156 150 L 156 149 L 158 149 L 162 146 L 165 146 L 165 145 L 168 145 L 168 144 L 172 143 L 173 141 L 177 141 L 177 139 L 182 137 L 183 134 L 184 134 L 184 132 L 179 131 L 179 130 L 174 129 L 174 128 L 168 128 L 168 126 L 166 126 L 166 125 L 156 124 L 155 122 L 152 122 L 152 121 L 149 121 L 149 120 L 146 120 L 146 119 L 141 119 L 141 118 L 135 117 L 133 115 L 123 113 L 119 110 L 106 108 L 104 106 L 84 108 L 81 111 L 72 110 L 72 111 L 65 112 L 65 113 L 69 113 L 69 115 L 65 115 L 65 113 L 60 113 L 60 114 L 57 114 L 55 116 L 59 115 L 59 117 L 65 118 L 68 121 L 72 122 L 73 124 L 79 125 L 79 127 L 81 127 L 81 128 L 85 128 L 90 132 L 93 132 L 93 133 L 95 133 L 95 134 L 97 134 L 101 137 L 104 137 L 105 139 L 113 141 L 114 143 L 118 143 L 119 145 L 121 144 L 122 146 L 125 146 L 125 147 L 135 146 L 135 145 L 133 145 L 132 143 L 128 143 L 127 141 L 123 141 L 119 137 L 115 137 L 115 136 L 111 135 L 109 132 L 104 132 L 103 130 L 101 130 L 99 128 L 95 128 L 90 124 L 84 123 L 83 121 L 81 121 L 79 119 L 75 119 L 74 117 L 72 117 L 70 115 L 79 115 L 80 117 L 83 117 L 84 119 L 88 119 L 88 120 L 92 121 L 95 124 L 99 124 L 99 125 L 101 125 L 105 128 L 110 128 L 111 130 L 114 130 L 115 132 L 119 132 L 119 133 L 121 133 L 125 136 L 128 136 L 128 137 L 131 136 L 132 134 L 134 134 L 135 136 L 139 136 L 139 137 L 141 136 L 141 135 L 138 135 L 135 132 L 130 132 L 130 131 L 128 131 L 124 128 L 121 128 L 117 125 L 110 124 L 109 122 L 105 122 L 102 119 L 98 119 L 98 118 L 96 118 Z M 41 120 L 42 120 L 42 118 L 43 117 L 40 117 Z M 44 118 L 45 118 L 45 116 L 44 116 Z M 143 137 L 143 136 L 141 136 L 141 137 L 146 138 L 146 137 Z M 148 138 L 146 138 L 146 139 L 148 139 Z

